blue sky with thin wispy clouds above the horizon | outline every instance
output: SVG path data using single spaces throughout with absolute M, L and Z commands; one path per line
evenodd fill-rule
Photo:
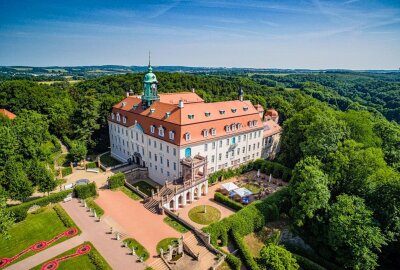
M 0 65 L 398 69 L 400 1 L 0 0 Z

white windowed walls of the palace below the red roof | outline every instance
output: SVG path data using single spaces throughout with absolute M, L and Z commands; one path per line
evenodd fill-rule
M 177 146 L 145 134 L 139 124 L 125 127 L 108 123 L 111 156 L 147 167 L 149 177 L 161 185 L 181 176 L 180 160 L 187 156 L 200 154 L 207 157 L 208 173 L 236 167 L 262 156 L 262 127 L 218 138 L 208 135 L 203 142 Z

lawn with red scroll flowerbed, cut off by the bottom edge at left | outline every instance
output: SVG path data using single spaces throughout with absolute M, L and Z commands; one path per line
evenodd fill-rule
M 100 255 L 100 253 L 94 248 L 94 246 L 90 242 L 85 242 L 84 244 L 88 244 L 91 246 L 91 250 L 89 251 L 89 253 L 86 253 L 84 255 L 77 256 L 74 258 L 70 258 L 66 261 L 59 262 L 58 269 L 62 269 L 62 270 L 77 270 L 77 269 L 96 270 L 96 269 L 100 269 L 100 268 L 96 267 L 96 265 L 94 263 L 95 260 L 96 260 L 96 264 L 102 265 L 101 269 L 104 269 L 104 270 L 112 269 L 111 266 L 108 265 L 106 260 L 104 260 L 104 258 Z M 52 258 L 51 260 L 54 260 L 54 259 L 60 258 L 60 257 L 64 257 L 66 255 L 74 254 L 76 252 L 77 248 L 82 245 L 76 246 L 76 247 Z M 42 265 L 44 265 L 45 263 L 47 263 L 51 260 L 48 260 L 46 262 L 43 262 L 43 263 L 37 265 L 36 267 L 32 268 L 32 270 L 39 270 L 42 267 Z

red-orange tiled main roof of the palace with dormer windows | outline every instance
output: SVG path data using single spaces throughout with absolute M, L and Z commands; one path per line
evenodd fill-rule
M 184 93 L 190 98 L 197 96 L 195 93 Z M 164 98 L 160 99 L 165 100 Z M 164 95 L 171 97 L 170 100 L 179 101 L 182 93 L 174 93 Z M 194 99 L 189 99 L 194 100 Z M 232 136 L 232 134 L 242 133 L 249 130 L 259 130 L 262 128 L 260 116 L 250 101 L 223 101 L 215 103 L 192 102 L 184 104 L 183 108 L 178 108 L 176 104 L 164 103 L 161 100 L 154 102 L 149 108 L 143 110 L 141 108 L 141 99 L 137 97 L 127 97 L 113 107 L 113 113 L 119 113 L 120 122 L 116 122 L 109 118 L 110 121 L 116 122 L 123 126 L 132 126 L 136 122 L 139 123 L 144 132 L 151 136 L 157 137 L 164 141 L 174 143 L 176 145 L 187 145 L 200 141 L 209 140 L 210 138 Z M 167 113 L 169 115 L 167 116 Z M 190 116 L 189 116 L 190 115 Z M 122 117 L 126 117 L 126 124 L 123 124 Z M 249 127 L 249 121 L 256 121 L 256 127 Z M 227 132 L 226 125 L 242 124 L 240 130 Z M 156 131 L 150 133 L 150 126 L 154 125 Z M 164 137 L 158 135 L 158 127 L 165 128 Z M 211 135 L 211 128 L 216 129 L 216 135 Z M 208 136 L 203 136 L 203 130 L 208 130 Z M 175 139 L 169 140 L 169 131 L 175 132 Z M 190 132 L 191 140 L 186 141 L 184 134 Z

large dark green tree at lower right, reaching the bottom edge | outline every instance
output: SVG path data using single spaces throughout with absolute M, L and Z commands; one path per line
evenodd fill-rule
M 328 244 L 336 253 L 336 260 L 345 268 L 375 269 L 377 253 L 385 238 L 376 226 L 372 211 L 364 200 L 340 195 L 329 212 Z

